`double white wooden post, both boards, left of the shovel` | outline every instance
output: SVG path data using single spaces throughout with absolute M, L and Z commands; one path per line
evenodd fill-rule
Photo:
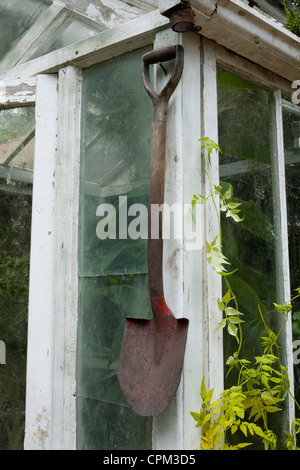
M 76 448 L 81 71 L 38 77 L 25 448 Z M 59 90 L 59 92 L 58 92 Z

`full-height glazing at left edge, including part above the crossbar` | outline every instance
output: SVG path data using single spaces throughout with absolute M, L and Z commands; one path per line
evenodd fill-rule
M 0 449 L 22 449 L 34 107 L 0 110 Z

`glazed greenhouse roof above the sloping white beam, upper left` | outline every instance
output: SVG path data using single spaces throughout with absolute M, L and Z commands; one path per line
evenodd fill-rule
M 143 13 L 155 1 L 2 0 L 0 73 Z

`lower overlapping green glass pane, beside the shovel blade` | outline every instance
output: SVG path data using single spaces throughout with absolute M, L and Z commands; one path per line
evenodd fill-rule
M 142 313 L 151 318 L 147 276 L 81 279 L 79 297 L 79 446 L 88 449 L 149 448 L 151 423 L 131 411 L 117 379 L 126 316 Z

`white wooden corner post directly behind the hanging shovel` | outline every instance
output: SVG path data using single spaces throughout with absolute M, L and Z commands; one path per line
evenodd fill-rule
M 168 110 L 165 203 L 190 205 L 193 192 L 201 191 L 201 162 L 198 139 L 200 124 L 200 54 L 199 37 L 178 35 L 171 30 L 157 35 L 155 48 L 181 43 L 184 47 L 184 70 L 171 98 Z M 165 65 L 165 68 L 170 66 Z M 169 77 L 169 76 L 168 76 Z M 168 79 L 167 77 L 167 79 Z M 162 69 L 156 72 L 157 88 L 166 80 Z M 188 211 L 187 211 L 188 212 Z M 187 234 L 188 220 L 178 220 Z M 201 228 L 201 227 L 200 227 Z M 189 319 L 182 380 L 177 394 L 164 413 L 154 419 L 153 448 L 195 449 L 199 436 L 190 411 L 200 406 L 202 370 L 202 245 L 192 240 L 164 240 L 164 288 L 167 304 L 174 315 Z

